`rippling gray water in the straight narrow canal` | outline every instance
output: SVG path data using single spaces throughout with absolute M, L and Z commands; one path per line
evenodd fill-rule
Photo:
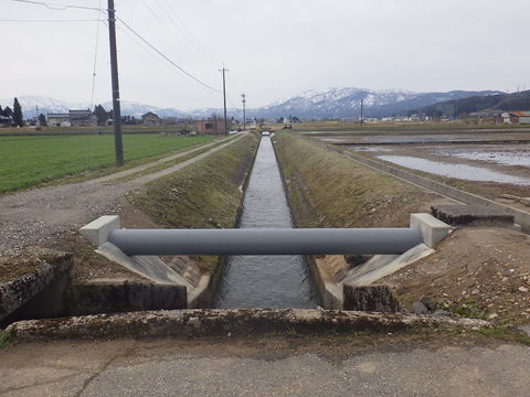
M 262 137 L 243 200 L 241 228 L 293 227 L 271 137 Z M 309 309 L 317 307 L 301 256 L 231 256 L 221 277 L 216 308 Z

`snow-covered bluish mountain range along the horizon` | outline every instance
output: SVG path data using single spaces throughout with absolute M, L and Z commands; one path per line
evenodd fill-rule
M 505 95 L 496 90 L 452 90 L 448 93 L 413 93 L 403 89 L 370 90 L 364 88 L 329 88 L 327 90 L 307 90 L 298 96 L 278 100 L 259 108 L 247 109 L 248 117 L 271 118 L 297 116 L 300 119 L 337 119 L 358 118 L 361 111 L 361 100 L 364 117 L 389 117 L 406 115 L 411 110 L 448 100 L 459 100 L 469 97 L 488 97 Z M 24 111 L 24 117 L 31 118 L 36 112 L 65 112 L 68 109 L 87 109 L 86 103 L 67 103 L 50 97 L 21 95 L 18 97 Z M 112 103 L 102 104 L 105 109 L 112 108 Z M 0 106 L 11 106 L 11 99 L 0 99 Z M 121 114 L 140 117 L 152 111 L 165 117 L 205 118 L 212 114 L 222 114 L 220 108 L 203 108 L 182 111 L 177 108 L 161 108 L 151 105 L 121 100 Z M 230 117 L 241 118 L 241 109 L 229 109 Z

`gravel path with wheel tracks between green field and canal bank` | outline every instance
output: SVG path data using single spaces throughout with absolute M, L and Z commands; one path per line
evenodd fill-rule
M 94 180 L 59 186 L 47 186 L 8 194 L 0 197 L 0 253 L 11 256 L 20 254 L 30 245 L 47 240 L 113 212 L 120 197 L 146 183 L 181 170 L 241 139 L 244 135 L 212 148 L 211 150 L 158 172 L 129 181 L 116 181 L 146 169 L 184 157 L 194 151 L 219 143 L 179 152 L 158 161 L 117 172 Z

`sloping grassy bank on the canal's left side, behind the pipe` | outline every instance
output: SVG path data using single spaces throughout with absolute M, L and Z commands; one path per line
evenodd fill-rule
M 251 170 L 257 137 L 248 135 L 178 172 L 128 195 L 129 202 L 163 227 L 232 228 L 236 224 L 243 190 Z M 215 257 L 198 265 L 212 271 Z

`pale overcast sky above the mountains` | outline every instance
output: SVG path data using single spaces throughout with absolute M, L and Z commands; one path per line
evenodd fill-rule
M 39 2 L 40 0 L 35 0 Z M 42 0 L 45 1 L 45 0 Z M 107 0 L 50 0 L 106 8 Z M 530 88 L 528 0 L 116 0 L 117 15 L 231 103 L 258 107 L 307 89 Z M 89 103 L 94 10 L 0 0 L 0 98 Z M 10 22 L 6 20 L 89 20 Z M 121 99 L 183 110 L 222 107 L 118 22 Z M 99 24 L 95 101 L 110 99 L 108 29 Z M 229 103 L 230 106 L 230 103 Z

